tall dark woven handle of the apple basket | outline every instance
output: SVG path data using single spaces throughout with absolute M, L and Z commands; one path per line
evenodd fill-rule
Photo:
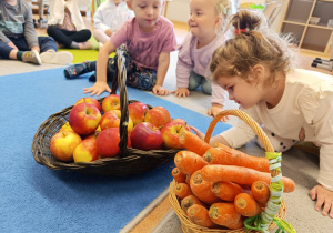
M 120 133 L 120 158 L 124 158 L 128 155 L 128 124 L 129 124 L 129 109 L 128 109 L 128 89 L 127 89 L 127 68 L 125 68 L 125 58 L 123 52 L 118 49 L 115 51 L 117 57 L 117 65 L 114 78 L 112 80 L 112 91 L 111 94 L 117 93 L 117 89 L 119 88 L 120 92 L 120 124 L 119 124 L 119 133 Z M 117 79 L 115 79 L 117 77 Z

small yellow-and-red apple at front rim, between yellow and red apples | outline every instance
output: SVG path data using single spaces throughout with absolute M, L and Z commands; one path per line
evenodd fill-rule
M 91 134 L 78 144 L 73 152 L 74 162 L 92 162 L 99 159 L 97 139 Z

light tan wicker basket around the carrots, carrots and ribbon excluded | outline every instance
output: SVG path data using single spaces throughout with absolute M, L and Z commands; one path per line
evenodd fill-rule
M 220 112 L 211 122 L 208 132 L 205 134 L 205 142 L 209 142 L 213 132 L 214 126 L 216 125 L 216 123 L 226 115 L 235 115 L 239 116 L 240 119 L 242 119 L 244 122 L 246 122 L 252 129 L 253 131 L 256 133 L 258 138 L 261 140 L 261 142 L 264 145 L 264 149 L 266 152 L 274 152 L 274 149 L 271 144 L 271 142 L 269 141 L 268 136 L 265 135 L 265 133 L 262 131 L 262 129 L 260 128 L 260 125 L 253 121 L 246 113 L 240 111 L 240 110 L 225 110 Z M 272 172 L 271 175 L 272 176 L 276 176 L 279 173 L 276 173 L 276 171 Z M 175 181 L 173 180 L 170 183 L 170 191 L 169 191 L 169 201 L 175 212 L 175 214 L 179 216 L 180 221 L 181 221 L 181 227 L 182 231 L 185 233 L 199 233 L 199 232 L 205 232 L 205 233 L 224 233 L 224 232 L 230 232 L 230 233 L 238 233 L 238 232 L 246 232 L 246 229 L 238 229 L 238 230 L 229 230 L 225 229 L 223 226 L 221 226 L 220 229 L 208 229 L 204 226 L 200 226 L 195 223 L 193 223 L 188 215 L 184 213 L 184 211 L 181 209 L 180 205 L 180 200 L 176 197 L 176 195 L 174 194 L 174 186 L 175 186 Z M 279 219 L 284 219 L 285 216 L 285 212 L 286 212 L 286 207 L 285 207 L 285 203 L 283 200 L 281 200 L 281 206 L 276 213 L 276 217 Z M 269 230 L 272 230 L 276 226 L 276 224 L 274 222 L 270 223 Z M 248 232 L 256 232 L 254 230 L 248 230 Z

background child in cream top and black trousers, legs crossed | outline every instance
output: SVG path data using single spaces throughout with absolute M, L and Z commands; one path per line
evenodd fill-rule
M 49 0 L 50 17 L 47 32 L 59 48 L 92 49 L 91 31 L 85 29 L 79 0 Z

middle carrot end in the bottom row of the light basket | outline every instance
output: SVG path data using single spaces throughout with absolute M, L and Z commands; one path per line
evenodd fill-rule
M 232 227 L 241 221 L 241 214 L 236 212 L 233 203 L 214 203 L 209 210 L 209 215 L 213 223 L 226 227 Z

